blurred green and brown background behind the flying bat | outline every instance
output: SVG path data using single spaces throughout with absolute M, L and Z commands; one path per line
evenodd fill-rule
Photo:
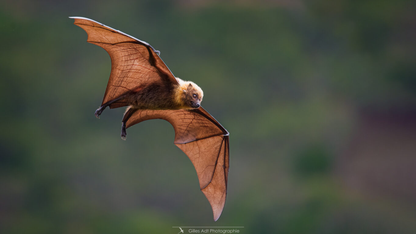
M 0 3 L 0 233 L 416 232 L 414 1 Z M 230 132 L 218 222 L 171 125 L 120 138 L 111 63 L 69 16 L 149 42 Z

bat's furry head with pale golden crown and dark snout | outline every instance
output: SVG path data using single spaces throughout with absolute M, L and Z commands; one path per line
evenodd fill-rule
M 201 101 L 204 96 L 202 89 L 192 81 L 176 79 L 179 82 L 178 90 L 175 93 L 176 103 L 185 109 L 194 109 L 201 106 Z

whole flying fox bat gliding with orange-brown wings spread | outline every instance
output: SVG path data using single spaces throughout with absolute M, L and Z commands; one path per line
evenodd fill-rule
M 174 143 L 192 161 L 217 221 L 227 195 L 229 133 L 200 106 L 201 88 L 173 76 L 149 43 L 94 20 L 70 18 L 87 32 L 87 42 L 102 47 L 111 58 L 110 78 L 95 116 L 107 106 L 128 106 L 121 123 L 123 140 L 126 128 L 141 121 L 159 118 L 171 123 Z

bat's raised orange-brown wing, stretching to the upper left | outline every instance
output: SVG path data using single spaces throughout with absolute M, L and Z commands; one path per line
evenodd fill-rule
M 102 105 L 120 96 L 139 91 L 144 86 L 167 79 L 178 83 L 155 50 L 147 42 L 129 36 L 119 30 L 84 17 L 74 18 L 74 25 L 88 34 L 87 42 L 102 47 L 111 58 L 111 74 Z M 110 108 L 126 106 L 120 99 L 109 104 Z

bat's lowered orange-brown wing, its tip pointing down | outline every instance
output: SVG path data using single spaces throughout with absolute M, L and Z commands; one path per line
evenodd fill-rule
M 138 110 L 129 118 L 126 127 L 156 118 L 168 121 L 175 129 L 174 143 L 191 159 L 201 191 L 210 202 L 217 221 L 227 195 L 228 131 L 202 107 L 193 110 Z

